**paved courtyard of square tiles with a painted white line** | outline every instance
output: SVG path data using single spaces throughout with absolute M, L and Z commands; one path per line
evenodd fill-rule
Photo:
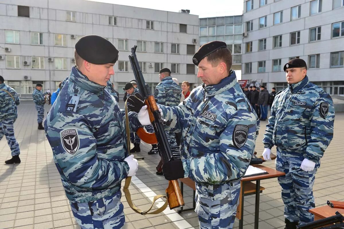
M 123 102 L 120 103 L 123 107 Z M 6 138 L 0 141 L 0 229 L 49 229 L 80 228 L 71 213 L 69 202 L 62 187 L 60 175 L 53 162 L 52 150 L 45 138 L 44 131 L 37 130 L 37 116 L 32 101 L 22 101 L 19 116 L 15 122 L 15 136 L 20 145 L 21 163 L 6 165 L 11 153 Z M 46 111 L 50 105 L 45 105 Z M 261 122 L 261 131 L 257 139 L 256 151 L 260 155 L 264 149 L 261 143 L 265 130 Z M 321 160 L 321 167 L 316 174 L 314 196 L 316 206 L 325 205 L 327 199 L 344 200 L 344 165 L 343 136 L 344 113 L 336 113 L 334 139 Z M 138 207 L 146 209 L 156 194 L 164 194 L 168 182 L 155 174 L 159 162 L 158 155 L 148 155 L 151 145 L 141 143 L 144 157 L 139 161 L 139 170 L 132 178 L 130 191 Z M 276 153 L 276 148 L 273 148 Z M 274 168 L 274 162 L 265 162 L 265 166 Z M 260 195 L 259 228 L 283 228 L 283 203 L 280 186 L 275 179 L 261 181 L 266 189 Z M 185 186 L 184 186 L 185 187 Z M 192 206 L 192 190 L 184 188 L 185 208 Z M 169 208 L 158 215 L 142 216 L 135 213 L 122 197 L 128 228 L 199 228 L 194 211 L 178 214 Z M 162 203 L 160 202 L 159 205 Z M 246 196 L 244 203 L 244 228 L 253 228 L 255 197 Z M 239 221 L 236 219 L 235 227 Z

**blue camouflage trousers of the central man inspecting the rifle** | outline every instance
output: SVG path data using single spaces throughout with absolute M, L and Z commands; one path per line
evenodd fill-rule
M 196 183 L 196 208 L 200 229 L 232 229 L 234 225 L 240 181 L 223 185 Z

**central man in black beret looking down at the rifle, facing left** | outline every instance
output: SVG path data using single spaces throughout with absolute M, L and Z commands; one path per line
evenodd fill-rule
M 203 84 L 175 107 L 160 105 L 174 132 L 182 133 L 181 158 L 164 163 L 166 179 L 190 177 L 196 182 L 200 228 L 233 228 L 240 180 L 252 158 L 259 119 L 237 82 L 226 43 L 202 45 L 193 56 Z M 136 110 L 144 104 L 133 102 Z M 139 111 L 142 124 L 148 111 Z M 145 114 L 146 112 L 146 114 Z M 142 117 L 142 118 L 140 118 Z

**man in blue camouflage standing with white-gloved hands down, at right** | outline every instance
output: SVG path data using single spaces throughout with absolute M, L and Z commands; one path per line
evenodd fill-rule
M 291 59 L 283 68 L 288 88 L 278 92 L 264 135 L 265 160 L 277 146 L 276 170 L 282 187 L 286 229 L 314 220 L 313 184 L 320 159 L 333 138 L 332 98 L 307 77 L 303 59 Z

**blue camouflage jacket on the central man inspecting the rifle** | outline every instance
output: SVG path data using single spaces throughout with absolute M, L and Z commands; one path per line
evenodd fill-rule
M 184 176 L 197 183 L 239 180 L 255 149 L 259 119 L 233 70 L 216 85 L 193 89 L 179 106 L 163 110 L 170 129 L 182 132 Z

